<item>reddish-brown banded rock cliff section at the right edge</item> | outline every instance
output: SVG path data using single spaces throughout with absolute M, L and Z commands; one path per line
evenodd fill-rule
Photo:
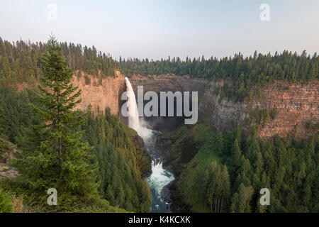
M 260 132 L 263 138 L 277 133 L 284 137 L 289 132 L 300 138 L 308 137 L 313 133 L 306 127 L 309 120 L 319 123 L 319 82 L 274 82 L 262 89 L 262 98 L 252 101 L 247 109 L 257 105 L 276 108 L 278 112 L 273 121 L 264 123 Z

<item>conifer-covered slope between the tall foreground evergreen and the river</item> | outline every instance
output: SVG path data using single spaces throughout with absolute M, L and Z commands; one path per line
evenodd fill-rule
M 150 167 L 150 157 L 135 140 L 136 132 L 111 115 L 110 109 L 97 116 L 89 109 L 83 129 L 84 141 L 94 145 L 103 199 L 128 211 L 150 211 L 150 189 L 141 177 Z

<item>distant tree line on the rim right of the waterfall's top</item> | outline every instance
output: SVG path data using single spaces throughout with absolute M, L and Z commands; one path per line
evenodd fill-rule
M 201 77 L 206 79 L 230 79 L 217 91 L 221 96 L 227 96 L 238 101 L 247 96 L 254 96 L 253 85 L 261 86 L 276 79 L 286 79 L 292 82 L 303 79 L 318 79 L 318 56 L 308 55 L 306 50 L 298 55 L 285 50 L 262 55 L 254 52 L 253 56 L 244 57 L 235 54 L 233 57 L 205 59 L 198 57 L 191 60 L 181 60 L 179 57 L 168 57 L 167 60 L 139 60 L 137 58 L 119 59 L 119 68 L 127 76 L 133 74 L 177 74 Z

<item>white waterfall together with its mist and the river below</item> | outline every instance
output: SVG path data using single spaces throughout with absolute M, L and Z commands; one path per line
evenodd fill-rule
M 138 135 L 143 139 L 147 153 L 150 154 L 152 160 L 152 174 L 147 178 L 152 193 L 151 212 L 170 212 L 164 201 L 162 189 L 165 185 L 174 180 L 174 175 L 162 168 L 162 160 L 159 157 L 159 151 L 155 146 L 156 137 L 160 132 L 152 131 L 150 128 L 147 128 L 147 123 L 144 119 L 139 118 L 135 94 L 127 77 L 125 77 L 125 84 L 128 96 L 128 126 L 137 131 Z

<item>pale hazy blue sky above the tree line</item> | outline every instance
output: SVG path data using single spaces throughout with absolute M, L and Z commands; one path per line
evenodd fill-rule
M 269 4 L 270 21 L 259 6 Z M 57 5 L 57 21 L 47 6 Z M 1 0 L 0 36 L 5 40 L 94 45 L 113 57 L 149 59 L 224 57 L 254 50 L 274 53 L 319 50 L 318 0 Z

